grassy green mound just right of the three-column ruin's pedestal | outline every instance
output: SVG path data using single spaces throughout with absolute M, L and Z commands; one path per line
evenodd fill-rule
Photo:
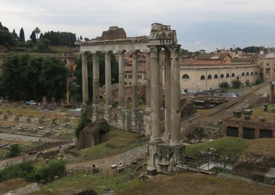
M 241 155 L 245 148 L 248 148 L 249 140 L 241 138 L 224 137 L 213 142 L 201 142 L 186 146 L 188 156 L 199 155 L 199 151 L 206 151 L 210 148 L 220 149 L 223 155 Z

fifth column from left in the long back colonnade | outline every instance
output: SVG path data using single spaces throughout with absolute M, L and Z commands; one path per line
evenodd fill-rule
M 132 109 L 138 110 L 137 51 L 132 52 Z

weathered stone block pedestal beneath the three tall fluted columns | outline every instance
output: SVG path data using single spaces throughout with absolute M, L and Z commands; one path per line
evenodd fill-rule
M 168 173 L 184 161 L 184 145 L 169 146 L 149 142 L 147 149 L 147 168 L 155 168 L 157 172 Z

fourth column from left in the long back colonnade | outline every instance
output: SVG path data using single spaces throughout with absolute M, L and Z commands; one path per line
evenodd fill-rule
M 119 102 L 118 109 L 125 109 L 124 51 L 118 53 Z

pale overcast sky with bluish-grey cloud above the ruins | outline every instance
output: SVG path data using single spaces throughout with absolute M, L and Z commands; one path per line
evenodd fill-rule
M 151 23 L 171 25 L 181 48 L 275 47 L 274 0 L 0 0 L 0 22 L 25 39 L 41 32 L 70 31 L 87 38 L 109 26 L 127 36 L 148 36 Z

